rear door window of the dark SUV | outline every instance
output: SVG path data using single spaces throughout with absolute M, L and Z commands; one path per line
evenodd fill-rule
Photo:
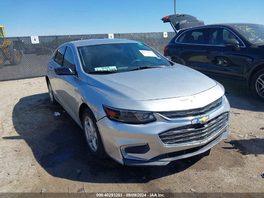
M 206 44 L 205 43 L 205 29 L 207 28 L 201 28 L 201 29 L 194 29 L 189 30 L 189 34 L 186 39 L 186 43 L 190 44 Z

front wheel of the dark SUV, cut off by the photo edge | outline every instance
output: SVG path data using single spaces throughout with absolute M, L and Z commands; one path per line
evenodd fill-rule
M 264 69 L 259 70 L 253 76 L 251 89 L 256 98 L 264 102 Z

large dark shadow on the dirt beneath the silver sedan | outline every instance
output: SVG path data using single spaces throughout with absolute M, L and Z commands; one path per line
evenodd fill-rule
M 54 112 L 60 115 L 55 116 Z M 3 139 L 25 140 L 45 171 L 67 180 L 146 183 L 186 170 L 209 153 L 171 162 L 165 167 L 129 167 L 110 157 L 97 160 L 87 155 L 82 129 L 62 106 L 50 104 L 48 93 L 21 98 L 13 108 L 12 121 L 19 135 Z

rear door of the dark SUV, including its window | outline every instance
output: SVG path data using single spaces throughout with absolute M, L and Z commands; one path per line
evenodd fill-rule
M 178 57 L 183 65 L 199 69 L 204 63 L 204 43 L 206 32 L 204 28 L 187 30 L 179 35 L 176 40 L 175 51 L 171 56 Z

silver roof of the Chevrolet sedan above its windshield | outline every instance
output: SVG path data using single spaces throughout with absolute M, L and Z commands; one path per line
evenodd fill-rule
M 107 44 L 107 43 L 140 43 L 139 41 L 133 41 L 128 39 L 117 39 L 117 38 L 100 38 L 100 39 L 87 39 L 72 41 L 76 47 L 86 46 L 86 45 L 97 45 L 97 44 Z M 67 43 L 64 43 L 67 44 Z

